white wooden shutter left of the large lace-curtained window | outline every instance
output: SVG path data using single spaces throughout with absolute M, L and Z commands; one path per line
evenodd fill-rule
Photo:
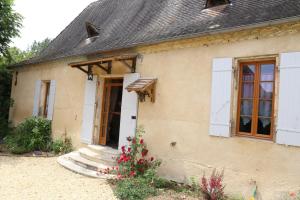
M 212 66 L 212 91 L 209 134 L 230 137 L 232 58 L 215 58 Z

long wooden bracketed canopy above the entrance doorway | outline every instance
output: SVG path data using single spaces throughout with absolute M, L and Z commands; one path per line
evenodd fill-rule
M 106 56 L 102 58 L 97 58 L 95 60 L 72 62 L 69 66 L 77 68 L 88 75 L 88 80 L 93 80 L 93 66 L 99 67 L 107 74 L 111 74 L 113 61 L 121 62 L 125 67 L 129 68 L 131 73 L 136 71 L 136 59 L 138 54 L 124 54 L 118 56 Z M 88 66 L 88 69 L 84 69 L 84 66 Z

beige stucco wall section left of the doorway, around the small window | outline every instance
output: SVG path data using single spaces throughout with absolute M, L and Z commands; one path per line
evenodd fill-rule
M 65 59 L 17 69 L 18 82 L 16 86 L 13 84 L 11 95 L 15 101 L 10 116 L 13 124 L 32 115 L 36 80 L 56 80 L 53 136 L 60 138 L 66 134 L 71 137 L 75 146 L 79 146 L 85 76 L 67 64 L 83 59 Z M 14 74 L 13 83 L 15 76 Z

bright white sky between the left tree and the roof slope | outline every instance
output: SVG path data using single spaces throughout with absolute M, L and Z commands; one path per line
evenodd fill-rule
M 54 39 L 79 13 L 95 0 L 15 0 L 14 9 L 23 19 L 14 46 L 25 50 L 34 40 Z

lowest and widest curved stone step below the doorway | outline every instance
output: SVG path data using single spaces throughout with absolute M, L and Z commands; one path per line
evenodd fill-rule
M 65 167 L 66 169 L 69 169 L 75 173 L 88 176 L 88 177 L 93 177 L 93 178 L 101 178 L 101 179 L 111 179 L 114 178 L 114 175 L 109 175 L 109 174 L 101 174 L 98 171 L 88 169 L 84 167 L 83 165 L 80 165 L 79 162 L 74 162 L 73 158 L 70 158 L 69 154 L 62 155 L 58 157 L 57 162 Z

